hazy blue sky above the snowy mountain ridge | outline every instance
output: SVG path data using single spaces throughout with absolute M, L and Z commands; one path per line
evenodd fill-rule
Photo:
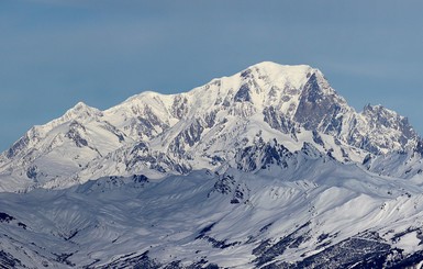
M 0 150 L 78 101 L 107 109 L 271 60 L 423 134 L 423 1 L 0 0 Z

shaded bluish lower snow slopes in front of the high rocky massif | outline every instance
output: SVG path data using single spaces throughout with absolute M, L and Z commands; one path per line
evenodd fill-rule
M 310 145 L 280 156 L 254 172 L 107 177 L 0 193 L 0 265 L 398 268 L 422 260 L 422 184 Z

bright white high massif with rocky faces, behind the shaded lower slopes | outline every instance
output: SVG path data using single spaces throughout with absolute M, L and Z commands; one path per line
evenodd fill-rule
M 404 152 L 420 141 L 396 112 L 367 105 L 357 113 L 320 70 L 265 61 L 185 93 L 143 92 L 105 111 L 78 103 L 0 156 L 0 189 L 60 188 L 145 169 L 164 177 L 234 167 L 240 148 L 275 138 L 290 150 L 311 143 L 346 162 Z M 134 160 L 140 143 L 149 155 Z

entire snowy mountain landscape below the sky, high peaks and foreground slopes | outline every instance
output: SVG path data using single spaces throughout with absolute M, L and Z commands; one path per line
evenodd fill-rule
M 1 268 L 423 266 L 423 141 L 310 66 L 78 103 L 0 155 Z

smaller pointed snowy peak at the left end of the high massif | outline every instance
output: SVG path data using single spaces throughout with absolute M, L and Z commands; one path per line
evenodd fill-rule
M 67 179 L 91 159 L 132 143 L 102 115 L 101 111 L 78 103 L 62 117 L 32 127 L 1 155 L 0 189 L 14 191 Z

